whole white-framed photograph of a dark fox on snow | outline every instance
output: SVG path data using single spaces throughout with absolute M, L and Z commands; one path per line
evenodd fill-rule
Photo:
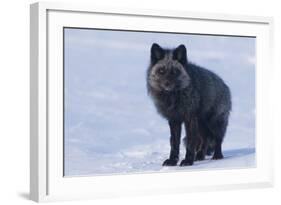
M 30 14 L 32 200 L 272 186 L 271 18 Z

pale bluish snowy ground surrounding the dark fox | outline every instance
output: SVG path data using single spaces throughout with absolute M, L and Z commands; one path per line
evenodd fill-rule
M 230 86 L 233 111 L 223 160 L 208 158 L 184 168 L 161 166 L 169 155 L 169 128 L 145 87 L 153 42 L 185 44 L 191 61 L 216 72 Z M 65 30 L 66 176 L 253 166 L 254 38 Z

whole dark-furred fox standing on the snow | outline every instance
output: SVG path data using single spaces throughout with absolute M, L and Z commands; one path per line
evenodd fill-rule
M 223 158 L 232 103 L 222 78 L 190 62 L 185 45 L 169 49 L 153 43 L 146 85 L 157 112 L 170 128 L 170 155 L 162 166 L 176 166 L 179 161 L 182 125 L 186 150 L 180 166 L 191 166 L 207 154 L 213 154 L 214 160 Z

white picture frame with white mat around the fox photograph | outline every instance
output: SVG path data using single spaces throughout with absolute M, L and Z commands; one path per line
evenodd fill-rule
M 112 19 L 114 16 L 115 20 Z M 158 27 L 148 22 L 157 21 Z M 257 37 L 255 168 L 63 177 L 62 28 L 250 35 Z M 196 23 L 196 24 L 195 24 Z M 189 27 L 190 28 L 190 27 Z M 34 201 L 91 199 L 142 194 L 269 187 L 273 185 L 273 133 L 270 77 L 273 75 L 273 19 L 182 11 L 97 8 L 95 5 L 46 3 L 30 10 L 30 198 Z M 190 32 L 190 30 L 189 30 Z M 51 68 L 51 69 L 50 69 Z M 58 68 L 58 69 L 54 69 Z M 200 178 L 200 180 L 196 180 Z

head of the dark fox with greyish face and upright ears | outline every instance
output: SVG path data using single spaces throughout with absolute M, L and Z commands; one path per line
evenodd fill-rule
M 163 49 L 154 43 L 150 52 L 147 83 L 151 89 L 173 92 L 190 84 L 190 76 L 185 69 L 188 61 L 184 45 L 175 49 Z

